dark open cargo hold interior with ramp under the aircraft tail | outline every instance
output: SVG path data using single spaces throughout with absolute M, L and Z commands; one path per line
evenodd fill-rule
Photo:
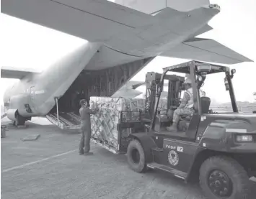
M 146 65 L 149 59 L 118 65 L 102 70 L 82 70 L 66 93 L 58 99 L 58 121 L 66 126 L 76 126 L 79 120 L 79 101 L 90 96 L 110 97 L 133 75 Z M 57 124 L 57 106 L 48 114 L 48 119 Z

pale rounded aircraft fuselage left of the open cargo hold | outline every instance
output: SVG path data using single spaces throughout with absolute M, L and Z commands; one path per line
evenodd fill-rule
M 22 78 L 4 93 L 6 108 L 17 109 L 23 117 L 48 114 L 56 103 L 55 97 L 66 92 L 99 47 L 87 42 L 43 73 Z M 27 105 L 31 111 L 27 111 Z

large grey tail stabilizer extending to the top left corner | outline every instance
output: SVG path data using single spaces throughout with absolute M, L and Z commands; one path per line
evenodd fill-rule
M 1 12 L 89 42 L 105 42 L 156 22 L 149 14 L 106 0 L 3 0 Z

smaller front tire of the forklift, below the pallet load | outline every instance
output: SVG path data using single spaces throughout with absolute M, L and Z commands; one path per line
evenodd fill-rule
M 146 172 L 146 157 L 144 149 L 138 140 L 133 139 L 127 148 L 128 165 L 133 171 Z

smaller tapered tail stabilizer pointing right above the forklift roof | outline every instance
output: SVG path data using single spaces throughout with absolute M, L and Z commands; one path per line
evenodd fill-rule
M 236 64 L 252 62 L 234 50 L 209 39 L 193 38 L 162 53 L 162 56 L 200 60 L 209 63 Z

